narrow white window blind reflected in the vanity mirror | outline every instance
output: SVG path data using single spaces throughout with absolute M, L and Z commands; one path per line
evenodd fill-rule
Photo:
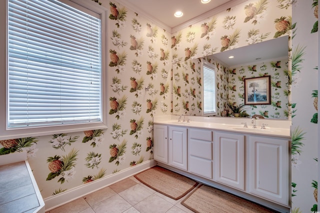
M 215 111 L 215 71 L 203 64 L 203 114 L 214 114 Z

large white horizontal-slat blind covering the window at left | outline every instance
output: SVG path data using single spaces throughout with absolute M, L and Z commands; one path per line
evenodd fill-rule
M 98 16 L 56 0 L 8 1 L 9 128 L 101 121 Z

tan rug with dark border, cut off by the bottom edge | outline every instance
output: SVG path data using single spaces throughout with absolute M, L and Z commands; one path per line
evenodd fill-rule
M 276 212 L 262 205 L 206 185 L 200 185 L 188 194 L 181 201 L 181 204 L 194 212 L 201 213 Z

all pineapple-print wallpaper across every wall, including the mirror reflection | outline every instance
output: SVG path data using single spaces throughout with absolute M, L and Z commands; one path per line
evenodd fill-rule
M 219 115 L 243 100 L 244 75 L 272 73 L 272 104 L 246 112 L 292 119 L 292 212 L 317 209 L 317 0 L 247 0 L 175 32 L 117 1 L 91 3 L 108 10 L 108 128 L 0 141 L 0 154 L 27 152 L 44 200 L 152 159 L 153 116 L 201 114 L 205 59 L 221 80 Z M 225 67 L 208 56 L 284 35 L 289 60 Z

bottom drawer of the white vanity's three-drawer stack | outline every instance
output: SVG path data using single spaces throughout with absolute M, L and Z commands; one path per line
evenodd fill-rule
M 212 179 L 212 161 L 190 156 L 188 164 L 190 172 Z

